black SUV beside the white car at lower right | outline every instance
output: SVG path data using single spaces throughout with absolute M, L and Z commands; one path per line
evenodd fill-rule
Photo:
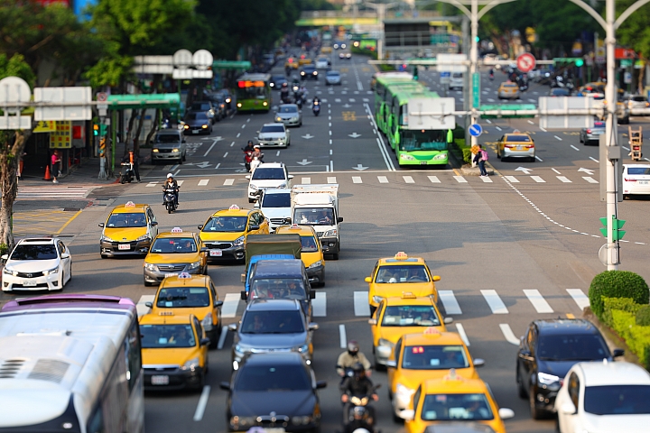
M 580 361 L 612 361 L 612 354 L 597 327 L 584 319 L 534 320 L 521 337 L 516 359 L 519 397 L 528 398 L 531 416 L 541 419 L 553 410 L 564 376 Z

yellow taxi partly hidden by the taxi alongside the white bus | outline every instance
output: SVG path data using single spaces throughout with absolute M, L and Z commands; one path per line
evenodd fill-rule
M 210 347 L 217 347 L 221 330 L 221 306 L 217 289 L 208 275 L 190 275 L 182 272 L 161 282 L 153 302 L 145 302 L 151 314 L 172 312 L 174 315 L 192 315 L 199 318 L 201 327 L 210 339 Z

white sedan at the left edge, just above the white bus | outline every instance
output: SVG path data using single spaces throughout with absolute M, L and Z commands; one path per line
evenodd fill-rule
M 62 290 L 72 278 L 70 251 L 56 237 L 22 239 L 2 258 L 4 291 Z

